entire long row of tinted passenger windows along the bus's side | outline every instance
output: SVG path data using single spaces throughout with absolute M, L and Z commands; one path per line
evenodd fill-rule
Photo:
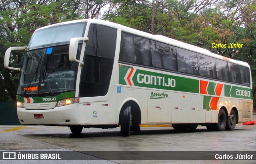
M 119 61 L 250 86 L 250 70 L 214 57 L 122 32 Z

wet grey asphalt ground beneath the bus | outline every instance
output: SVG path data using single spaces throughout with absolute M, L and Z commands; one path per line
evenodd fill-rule
M 172 127 L 141 127 L 140 133 L 121 137 L 120 128 L 83 129 L 73 135 L 68 127 L 0 125 L 0 151 L 256 151 L 256 125 L 237 124 L 234 131 L 176 131 Z M 2 160 L 0 163 L 20 163 Z M 26 163 L 52 163 L 26 160 Z M 255 160 L 54 160 L 54 163 L 246 163 Z

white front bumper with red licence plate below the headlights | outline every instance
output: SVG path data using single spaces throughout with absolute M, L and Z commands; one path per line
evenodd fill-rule
M 54 109 L 31 110 L 17 107 L 18 119 L 27 125 L 79 125 L 77 103 Z

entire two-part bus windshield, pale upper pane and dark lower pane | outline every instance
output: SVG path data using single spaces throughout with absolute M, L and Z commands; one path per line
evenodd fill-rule
M 57 24 L 34 32 L 24 54 L 18 94 L 74 91 L 77 62 L 68 59 L 69 42 L 84 37 L 87 22 Z M 81 44 L 78 46 L 78 54 Z

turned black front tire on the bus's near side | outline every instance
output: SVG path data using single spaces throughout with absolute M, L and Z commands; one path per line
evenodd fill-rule
M 121 135 L 124 137 L 129 137 L 131 134 L 131 124 L 132 124 L 132 115 L 131 115 L 131 106 L 124 106 L 122 110 L 121 117 Z

